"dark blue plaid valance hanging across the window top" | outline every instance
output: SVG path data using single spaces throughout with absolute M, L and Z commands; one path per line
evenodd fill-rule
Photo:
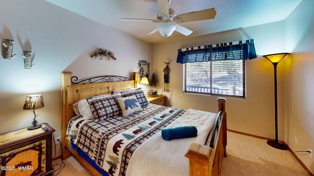
M 245 43 L 230 42 L 224 44 L 210 44 L 197 48 L 184 48 L 178 50 L 177 63 L 209 62 L 257 58 L 254 39 Z

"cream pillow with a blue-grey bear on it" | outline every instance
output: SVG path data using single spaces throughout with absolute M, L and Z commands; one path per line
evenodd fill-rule
M 129 97 L 117 97 L 117 100 L 119 102 L 123 116 L 143 110 L 138 103 L 135 95 Z

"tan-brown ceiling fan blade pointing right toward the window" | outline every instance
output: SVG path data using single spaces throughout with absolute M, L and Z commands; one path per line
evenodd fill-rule
M 180 18 L 180 22 L 195 22 L 200 20 L 209 20 L 214 19 L 215 16 L 216 11 L 214 8 L 177 15 L 177 17 Z

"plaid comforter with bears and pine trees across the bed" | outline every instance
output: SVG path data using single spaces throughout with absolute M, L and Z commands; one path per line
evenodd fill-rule
M 111 176 L 124 176 L 134 150 L 186 110 L 149 104 L 131 115 L 103 121 L 74 117 L 69 122 L 69 140 Z

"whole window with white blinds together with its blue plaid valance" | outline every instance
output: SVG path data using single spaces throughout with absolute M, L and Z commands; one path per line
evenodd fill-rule
M 254 58 L 253 39 L 179 49 L 183 92 L 245 98 L 246 60 Z

